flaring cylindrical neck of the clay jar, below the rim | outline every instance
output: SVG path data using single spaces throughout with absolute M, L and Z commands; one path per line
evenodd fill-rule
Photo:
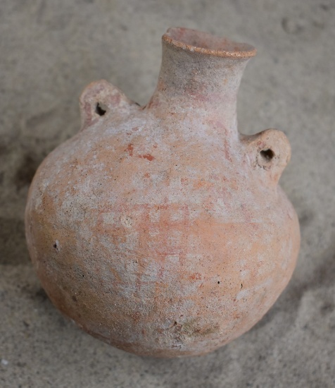
M 148 109 L 215 119 L 222 131 L 237 133 L 236 97 L 248 59 L 175 47 L 163 40 L 158 85 Z

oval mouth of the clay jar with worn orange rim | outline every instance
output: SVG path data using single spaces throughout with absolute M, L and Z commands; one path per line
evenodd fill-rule
M 162 40 L 179 49 L 213 56 L 250 58 L 256 54 L 256 49 L 251 44 L 233 42 L 224 37 L 216 37 L 189 28 L 169 28 Z

